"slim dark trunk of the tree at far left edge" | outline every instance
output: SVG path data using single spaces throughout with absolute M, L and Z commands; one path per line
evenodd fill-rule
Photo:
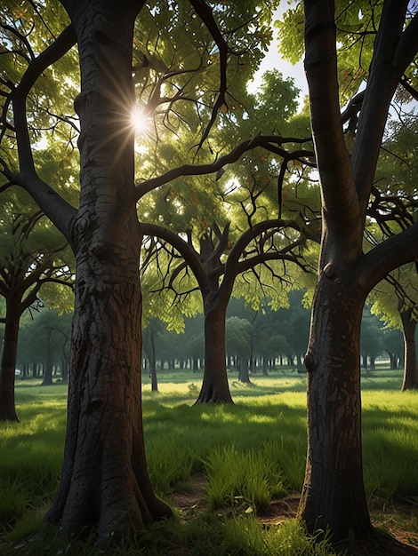
M 6 299 L 3 350 L 0 367 L 0 421 L 19 421 L 14 402 L 14 371 L 18 349 L 20 311 Z

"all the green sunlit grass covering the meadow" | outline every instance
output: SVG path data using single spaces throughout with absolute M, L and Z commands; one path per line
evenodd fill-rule
M 199 511 L 178 510 L 141 543 L 120 554 L 331 554 L 313 542 L 296 520 L 266 526 L 260 520 L 272 500 L 301 490 L 306 455 L 305 377 L 276 372 L 255 375 L 252 385 L 231 380 L 235 405 L 195 406 L 200 375 L 165 371 L 159 392 L 143 388 L 144 434 L 149 473 L 159 496 L 176 505 L 176 494 L 193 495 Z M 400 373 L 374 372 L 363 379 L 363 444 L 366 493 L 379 525 L 402 528 L 418 546 L 418 393 L 398 391 Z M 19 424 L 0 424 L 0 553 L 93 553 L 92 540 L 62 544 L 45 537 L 14 549 L 41 528 L 58 486 L 65 436 L 65 385 L 16 386 Z M 379 387 L 380 385 L 380 387 Z M 407 503 L 407 512 L 394 504 Z M 192 504 L 193 506 L 193 504 Z M 390 515 L 390 519 L 388 519 Z M 397 517 L 398 516 L 398 517 Z M 46 531 L 46 532 L 45 532 Z M 3 543 L 3 545 L 2 545 Z M 89 544 L 90 543 L 90 544 Z M 184 552 L 185 547 L 189 552 Z M 7 552 L 10 550 L 10 552 Z M 181 552 L 183 550 L 183 552 Z

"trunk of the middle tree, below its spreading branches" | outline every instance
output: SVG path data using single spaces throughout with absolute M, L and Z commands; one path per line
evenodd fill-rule
M 205 367 L 196 403 L 232 403 L 225 351 L 225 303 L 204 298 Z

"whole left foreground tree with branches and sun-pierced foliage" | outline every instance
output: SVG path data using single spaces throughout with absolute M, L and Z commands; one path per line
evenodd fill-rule
M 172 515 L 153 492 L 143 442 L 141 226 L 136 203 L 180 176 L 217 172 L 253 147 L 248 139 L 213 162 L 213 152 L 205 150 L 204 144 L 225 107 L 232 112 L 239 106 L 229 94 L 229 79 L 238 75 L 236 81 L 245 87 L 269 42 L 271 34 L 264 31 L 269 31 L 276 3 L 234 2 L 225 10 L 222 5 L 211 9 L 205 2 L 190 0 L 163 3 L 160 11 L 148 12 L 144 5 L 142 0 L 87 4 L 62 0 L 31 3 L 23 13 L 15 5 L 2 8 L 7 60 L 1 80 L 3 189 L 12 184 L 24 188 L 68 240 L 76 257 L 64 464 L 59 491 L 45 519 L 60 523 L 68 536 L 94 525 L 100 544 L 115 539 L 117 533 L 129 536 Z M 134 41 L 135 25 L 139 38 Z M 188 41 L 184 41 L 185 31 Z M 76 43 L 77 51 L 71 50 Z M 76 58 L 81 92 L 74 99 L 76 82 L 71 77 L 76 73 L 72 63 Z M 165 60 L 172 60 L 173 67 L 168 68 Z M 136 107 L 134 82 L 147 88 L 151 71 L 157 74 L 157 83 L 148 89 L 147 109 L 158 108 L 156 121 L 175 132 L 184 121 L 182 107 L 193 107 L 190 148 L 195 147 L 202 163 L 197 164 L 196 158 L 196 164 L 191 164 L 188 158 L 188 163 L 173 167 L 170 157 L 161 156 L 164 170 L 156 175 L 143 168 L 146 178 L 136 182 L 131 123 Z M 42 75 L 48 79 L 41 79 Z M 208 75 L 205 91 L 202 75 Z M 43 91 L 43 84 L 51 82 L 53 91 Z M 55 97 L 57 104 L 65 105 L 62 112 L 49 106 Z M 71 99 L 80 124 L 78 204 L 65 195 L 66 184 L 59 178 L 43 179 L 34 148 L 40 132 L 38 113 L 45 123 L 44 135 L 50 131 L 50 143 L 55 139 L 52 132 L 62 139 L 64 129 L 74 130 L 77 120 L 68 107 Z M 71 134 L 68 144 L 72 139 Z M 263 140 L 270 145 L 279 139 L 257 139 Z M 161 164 L 156 168 L 161 170 Z

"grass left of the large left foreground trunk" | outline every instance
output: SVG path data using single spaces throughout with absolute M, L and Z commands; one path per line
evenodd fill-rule
M 20 423 L 0 423 L 0 523 L 5 529 L 19 528 L 36 507 L 45 508 L 60 479 L 67 388 L 33 384 L 16 387 Z

